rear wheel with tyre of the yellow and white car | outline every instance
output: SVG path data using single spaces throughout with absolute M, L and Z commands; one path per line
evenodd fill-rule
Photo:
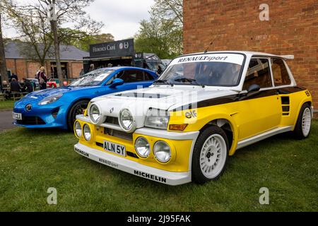
M 296 139 L 302 140 L 310 136 L 312 126 L 312 111 L 310 105 L 305 103 L 300 109 L 293 134 Z

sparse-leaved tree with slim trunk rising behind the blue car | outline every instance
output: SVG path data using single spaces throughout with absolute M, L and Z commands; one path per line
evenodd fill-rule
M 98 34 L 103 26 L 103 23 L 92 20 L 84 11 L 84 8 L 94 0 L 37 0 L 30 4 L 19 5 L 15 2 L 9 4 L 8 0 L 1 1 L 7 3 L 6 11 L 10 12 L 10 18 L 18 28 L 23 40 L 27 40 L 31 44 L 37 43 L 32 45 L 35 53 L 42 52 L 42 56 L 44 56 L 49 53 L 54 44 L 57 74 L 60 81 L 64 79 L 59 59 L 60 43 L 71 38 L 83 40 L 88 35 Z M 56 13 L 50 11 L 48 16 L 52 4 L 55 4 Z M 48 20 L 48 18 L 52 18 L 52 20 Z M 64 24 L 71 24 L 72 28 L 64 28 Z M 39 59 L 42 61 L 42 57 Z

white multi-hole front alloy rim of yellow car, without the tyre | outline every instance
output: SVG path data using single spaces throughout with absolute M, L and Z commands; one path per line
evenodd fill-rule
M 200 168 L 204 177 L 218 177 L 225 165 L 227 153 L 227 145 L 222 136 L 213 134 L 206 139 L 200 153 Z

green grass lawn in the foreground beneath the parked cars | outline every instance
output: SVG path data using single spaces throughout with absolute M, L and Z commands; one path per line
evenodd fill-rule
M 73 151 L 72 133 L 0 133 L 0 211 L 318 211 L 318 121 L 310 138 L 282 134 L 230 157 L 216 182 L 165 186 Z M 47 189 L 57 189 L 57 205 Z M 259 189 L 270 204 L 259 204 Z

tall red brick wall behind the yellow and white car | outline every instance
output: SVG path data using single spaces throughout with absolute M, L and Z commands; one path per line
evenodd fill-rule
M 295 55 L 288 65 L 318 109 L 317 0 L 184 0 L 184 53 L 206 48 Z

